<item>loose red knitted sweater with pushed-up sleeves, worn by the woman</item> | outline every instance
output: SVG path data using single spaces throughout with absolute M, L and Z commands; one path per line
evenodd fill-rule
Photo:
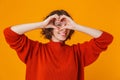
M 26 80 L 84 80 L 84 67 L 107 49 L 113 37 L 103 32 L 99 38 L 68 46 L 60 42 L 42 44 L 4 30 L 7 43 L 26 64 Z

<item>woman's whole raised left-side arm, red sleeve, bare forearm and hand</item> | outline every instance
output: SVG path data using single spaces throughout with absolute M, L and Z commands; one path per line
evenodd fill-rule
M 51 21 L 55 18 L 56 15 L 53 15 L 43 22 L 15 25 L 4 30 L 7 43 L 17 52 L 24 63 L 27 63 L 28 59 L 32 58 L 33 52 L 36 54 L 38 46 L 42 45 L 38 41 L 29 39 L 24 33 L 38 28 L 54 28 L 55 26 L 53 26 Z

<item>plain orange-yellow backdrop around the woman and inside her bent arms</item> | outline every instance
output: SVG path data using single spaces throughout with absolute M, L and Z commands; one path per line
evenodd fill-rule
M 3 30 L 11 25 L 42 21 L 56 9 L 67 10 L 79 24 L 107 31 L 114 36 L 108 50 L 85 68 L 85 80 L 120 80 L 119 0 L 0 0 L 0 80 L 25 80 L 25 65 L 5 42 Z M 46 42 L 39 30 L 26 34 L 33 40 Z M 68 44 L 90 38 L 76 32 Z

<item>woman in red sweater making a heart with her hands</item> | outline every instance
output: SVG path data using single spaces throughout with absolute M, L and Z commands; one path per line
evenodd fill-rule
M 50 42 L 43 44 L 24 35 L 39 28 Z M 66 45 L 74 30 L 93 39 Z M 77 24 L 64 10 L 51 12 L 42 22 L 11 26 L 4 34 L 7 43 L 26 64 L 26 80 L 84 80 L 84 67 L 93 63 L 113 40 L 107 32 Z

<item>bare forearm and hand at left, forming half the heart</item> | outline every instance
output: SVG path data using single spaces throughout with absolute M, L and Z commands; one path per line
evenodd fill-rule
M 20 24 L 11 27 L 11 30 L 17 34 L 24 34 L 25 32 L 38 29 L 38 28 L 55 28 L 54 25 L 51 24 L 53 19 L 57 19 L 58 15 L 52 15 L 48 17 L 43 22 L 36 22 L 36 23 L 28 23 L 28 24 Z

